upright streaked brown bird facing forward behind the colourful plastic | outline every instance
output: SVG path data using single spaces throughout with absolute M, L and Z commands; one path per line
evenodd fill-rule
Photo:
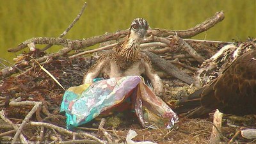
M 163 95 L 163 83 L 152 68 L 148 56 L 140 51 L 140 43 L 145 38 L 148 22 L 143 18 L 132 21 L 129 33 L 113 49 L 100 54 L 99 60 L 86 72 L 83 83 L 92 83 L 100 74 L 111 77 L 146 76 L 152 83 L 156 95 Z

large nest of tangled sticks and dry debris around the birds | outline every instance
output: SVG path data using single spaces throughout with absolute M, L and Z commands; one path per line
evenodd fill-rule
M 171 108 L 175 108 L 177 100 L 196 90 L 196 87 L 191 85 L 192 77 L 204 60 L 211 58 L 223 45 L 229 44 L 229 42 L 184 38 L 211 28 L 223 18 L 223 12 L 216 13 L 211 19 L 187 31 L 166 29 L 148 31 L 150 37 L 143 41 L 144 44 L 141 47 L 145 48 L 143 51 L 148 54 L 157 74 L 163 79 L 166 92 L 163 99 Z M 194 33 L 191 34 L 191 31 Z M 104 45 L 90 51 L 81 49 L 100 42 L 117 40 L 126 34 L 127 31 L 120 31 L 84 40 L 31 38 L 18 47 L 9 49 L 10 52 L 16 52 L 28 46 L 29 52 L 19 55 L 15 59 L 15 65 L 5 67 L 0 72 L 2 77 L 0 83 L 1 141 L 125 143 L 127 132 L 133 129 L 138 133 L 134 141 L 209 143 L 214 125 L 211 113 L 207 118 L 202 119 L 180 117 L 180 124 L 169 130 L 143 129 L 134 114 L 129 112 L 99 116 L 92 122 L 77 127 L 74 131 L 65 129 L 65 114 L 59 113 L 65 92 L 63 88 L 80 85 L 84 73 L 97 60 L 96 52 L 110 49 L 115 44 Z M 36 49 L 35 44 L 63 45 L 63 49 L 47 54 L 45 49 L 49 47 Z M 236 45 L 239 44 L 236 43 Z M 81 56 L 93 52 L 93 56 Z M 174 71 L 170 71 L 170 67 L 163 67 L 163 65 L 172 67 Z M 54 76 L 63 88 L 42 67 Z M 237 136 L 236 132 L 240 130 L 240 127 L 255 127 L 255 122 L 255 118 L 250 116 L 234 118 L 225 115 L 220 129 L 221 141 L 252 142 L 253 140 Z

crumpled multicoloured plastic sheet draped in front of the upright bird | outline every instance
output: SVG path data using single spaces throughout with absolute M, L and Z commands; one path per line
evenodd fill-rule
M 129 102 L 143 127 L 170 129 L 179 122 L 178 116 L 140 76 L 113 77 L 91 84 L 68 88 L 63 95 L 60 112 L 65 111 L 67 129 L 86 124 L 112 109 L 120 110 Z

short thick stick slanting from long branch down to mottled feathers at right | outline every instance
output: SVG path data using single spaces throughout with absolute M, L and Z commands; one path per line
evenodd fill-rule
M 185 50 L 187 51 L 195 60 L 197 60 L 200 63 L 203 63 L 205 61 L 203 56 L 200 56 L 188 43 L 186 43 L 182 38 L 179 38 L 179 36 L 172 36 L 174 40 Z

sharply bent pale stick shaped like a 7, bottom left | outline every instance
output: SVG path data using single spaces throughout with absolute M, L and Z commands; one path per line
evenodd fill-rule
M 36 110 L 41 106 L 42 102 L 10 102 L 11 106 L 20 106 L 20 105 L 35 105 L 31 111 L 29 111 L 28 115 L 25 116 L 24 120 L 22 121 L 22 123 L 20 124 L 19 129 L 17 129 L 16 134 L 13 137 L 12 140 L 12 144 L 17 143 L 17 138 L 19 137 L 22 129 L 24 128 L 24 126 L 27 124 L 27 122 L 29 121 L 29 118 L 31 118 L 31 116 L 36 112 Z

